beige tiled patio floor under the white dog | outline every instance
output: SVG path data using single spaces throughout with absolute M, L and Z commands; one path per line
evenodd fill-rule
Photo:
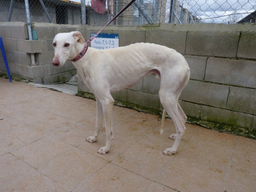
M 96 143 L 96 105 L 0 78 L 0 191 L 255 192 L 256 140 L 187 124 L 178 153 L 165 156 L 174 125 L 114 106 L 107 155 Z

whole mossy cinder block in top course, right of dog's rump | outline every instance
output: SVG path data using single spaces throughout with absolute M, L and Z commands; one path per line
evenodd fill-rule
M 236 57 L 240 31 L 188 31 L 186 54 Z

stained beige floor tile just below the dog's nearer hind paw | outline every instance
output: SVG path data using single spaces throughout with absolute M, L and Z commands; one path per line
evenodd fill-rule
M 182 192 L 219 192 L 225 170 L 176 158 L 167 166 L 156 182 Z

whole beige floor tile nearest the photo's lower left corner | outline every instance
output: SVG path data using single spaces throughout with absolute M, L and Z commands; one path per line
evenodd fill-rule
M 57 140 L 51 136 L 46 136 L 12 151 L 12 154 L 32 167 L 38 168 L 67 152 L 71 148 L 71 145 L 68 145 L 63 141 Z

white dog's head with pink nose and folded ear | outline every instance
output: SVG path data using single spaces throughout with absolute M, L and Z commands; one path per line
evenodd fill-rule
M 85 43 L 84 37 L 79 31 L 57 34 L 52 43 L 54 48 L 52 65 L 56 67 L 63 66 L 67 60 L 74 59 L 77 55 L 77 51 L 81 51 L 76 50 L 77 43 Z

